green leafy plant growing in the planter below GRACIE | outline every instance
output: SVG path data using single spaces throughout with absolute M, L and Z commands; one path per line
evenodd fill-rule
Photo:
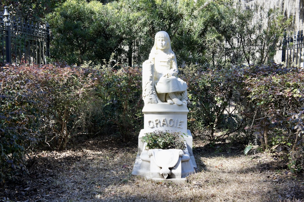
M 184 136 L 180 132 L 155 130 L 145 135 L 141 141 L 147 143 L 147 149 L 186 149 Z

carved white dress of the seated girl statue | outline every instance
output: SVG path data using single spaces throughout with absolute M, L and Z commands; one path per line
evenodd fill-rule
M 157 93 L 174 93 L 187 90 L 187 84 L 180 78 L 177 78 L 178 69 L 174 53 L 156 54 L 154 57 L 154 81 Z M 164 76 L 168 72 L 172 76 Z

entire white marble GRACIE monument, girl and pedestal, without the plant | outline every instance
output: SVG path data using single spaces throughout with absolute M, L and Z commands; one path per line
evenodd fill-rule
M 143 62 L 144 128 L 138 136 L 138 153 L 133 175 L 142 175 L 157 182 L 186 183 L 195 172 L 192 134 L 187 129 L 187 84 L 177 77 L 178 68 L 167 32 L 157 32 L 149 59 Z M 142 137 L 155 130 L 179 132 L 186 148 L 147 149 Z

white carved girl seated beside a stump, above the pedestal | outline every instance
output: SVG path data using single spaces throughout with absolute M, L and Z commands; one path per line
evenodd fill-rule
M 187 84 L 177 78 L 178 68 L 167 32 L 155 35 L 149 59 L 143 63 L 143 99 L 145 103 L 187 104 Z

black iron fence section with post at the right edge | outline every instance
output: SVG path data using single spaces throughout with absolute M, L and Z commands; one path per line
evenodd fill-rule
M 282 43 L 282 62 L 286 66 L 303 67 L 304 36 L 303 30 L 298 34 L 288 35 L 285 33 Z

